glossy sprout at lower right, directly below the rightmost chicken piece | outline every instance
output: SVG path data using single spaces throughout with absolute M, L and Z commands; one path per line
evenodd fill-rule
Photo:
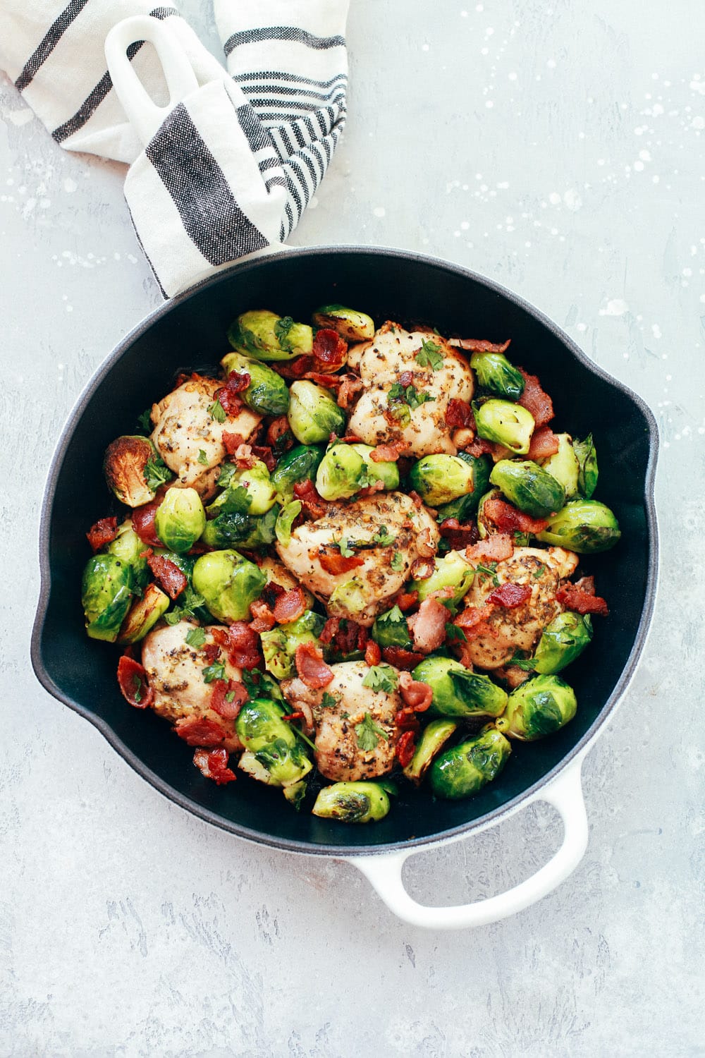
M 575 692 L 559 676 L 535 676 L 513 691 L 497 728 L 509 738 L 534 742 L 575 716 Z

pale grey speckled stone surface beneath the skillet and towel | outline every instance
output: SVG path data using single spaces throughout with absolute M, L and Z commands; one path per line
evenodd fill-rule
M 35 681 L 37 518 L 84 384 L 160 304 L 119 167 L 62 152 L 0 86 L 3 340 L 0 1053 L 515 1058 L 705 1054 L 700 0 L 352 0 L 345 142 L 292 239 L 467 264 L 654 409 L 651 637 L 589 754 L 590 845 L 520 915 L 433 933 L 352 867 L 171 805 Z M 207 42 L 209 3 L 182 8 Z M 416 857 L 428 901 L 518 881 L 548 809 Z

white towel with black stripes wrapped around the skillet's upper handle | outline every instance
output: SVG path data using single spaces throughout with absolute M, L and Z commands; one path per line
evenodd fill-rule
M 0 0 L 0 68 L 62 147 L 130 166 L 165 296 L 284 242 L 345 126 L 348 0 L 214 8 L 227 69 L 171 5 Z

